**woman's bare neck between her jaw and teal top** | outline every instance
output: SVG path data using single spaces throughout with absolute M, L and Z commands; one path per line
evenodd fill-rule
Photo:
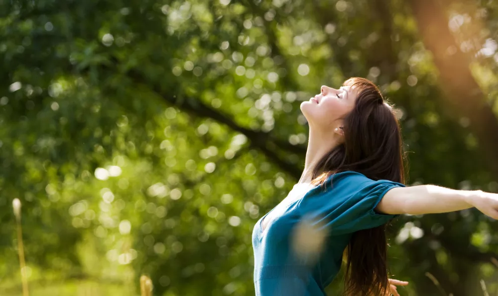
M 336 137 L 331 137 L 331 132 L 325 134 L 315 131 L 310 127 L 304 170 L 298 183 L 311 182 L 311 174 L 316 163 L 338 144 L 338 139 Z M 322 171 L 318 173 L 320 174 Z

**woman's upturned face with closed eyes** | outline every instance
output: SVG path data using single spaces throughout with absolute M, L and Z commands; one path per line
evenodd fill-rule
M 301 103 L 301 112 L 310 128 L 331 131 L 342 126 L 344 117 L 355 106 L 356 93 L 350 86 L 339 89 L 322 85 L 320 93 Z

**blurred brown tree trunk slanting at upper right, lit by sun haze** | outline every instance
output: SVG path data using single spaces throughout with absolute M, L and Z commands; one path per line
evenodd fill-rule
M 434 0 L 410 0 L 418 31 L 439 70 L 446 103 L 458 116 L 467 117 L 485 153 L 489 169 L 498 179 L 498 120 L 485 94 L 472 76 L 471 57 L 460 50 L 448 28 L 444 7 Z

